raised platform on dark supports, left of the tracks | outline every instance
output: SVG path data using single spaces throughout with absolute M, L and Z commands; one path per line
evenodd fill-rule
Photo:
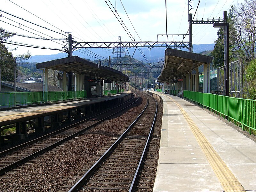
M 50 125 L 50 127 L 60 127 L 64 118 L 66 122 L 71 122 L 73 118 L 81 118 L 82 114 L 92 114 L 109 108 L 111 105 L 124 102 L 128 100 L 130 96 L 131 91 L 127 91 L 110 96 L 1 110 L 0 129 L 3 130 L 3 126 L 15 124 L 16 134 L 12 135 L 10 138 L 0 136 L 0 145 L 3 143 L 4 138 L 22 140 L 28 137 L 27 124 L 32 120 L 35 132 L 44 132 L 45 124 Z

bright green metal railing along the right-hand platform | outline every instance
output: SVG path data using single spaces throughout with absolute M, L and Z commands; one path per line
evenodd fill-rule
M 235 124 L 241 125 L 243 130 L 247 127 L 250 134 L 251 129 L 256 131 L 256 100 L 186 90 L 183 93 L 184 98 L 217 112 L 228 121 L 233 120 Z

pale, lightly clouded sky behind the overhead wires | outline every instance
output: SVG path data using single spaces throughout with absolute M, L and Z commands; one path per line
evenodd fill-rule
M 196 17 L 200 20 L 202 17 L 204 20 L 206 20 L 207 17 L 209 17 L 209 19 L 212 19 L 213 17 L 222 18 L 223 11 L 228 10 L 231 4 L 236 5 L 237 1 L 238 0 L 201 0 L 195 19 Z M 124 5 L 125 10 L 121 2 Z M 117 36 L 121 36 L 122 41 L 131 41 L 108 5 L 112 7 L 112 10 L 116 9 L 118 13 L 118 15 L 116 13 L 116 16 L 120 16 L 123 20 L 123 26 L 125 25 L 128 28 L 136 41 L 140 41 L 140 39 L 142 41 L 156 41 L 157 34 L 166 34 L 165 0 L 0 0 L 0 4 L 0 9 L 5 12 L 58 32 L 55 33 L 37 27 L 24 20 L 0 12 L 3 16 L 0 17 L 0 27 L 10 32 L 16 32 L 17 34 L 27 36 L 38 37 L 38 35 L 40 35 L 47 38 L 53 37 L 62 39 L 65 38 L 64 35 L 61 35 L 64 34 L 64 32 L 73 32 L 74 40 L 77 42 L 117 41 Z M 198 0 L 194 0 L 193 15 L 196 11 L 197 4 Z M 125 11 L 132 21 L 132 24 Z M 168 34 L 187 33 L 188 0 L 167 0 L 167 23 Z M 133 27 L 139 36 L 134 31 Z M 217 30 L 218 29 L 213 28 L 212 25 L 193 25 L 193 44 L 214 43 L 217 38 Z M 28 31 L 33 32 L 34 34 L 29 33 Z M 43 34 L 39 32 L 42 32 Z M 163 37 L 163 39 L 160 40 L 165 40 L 165 38 L 166 37 Z M 179 38 L 174 39 L 174 41 L 180 41 Z M 62 49 L 62 47 L 66 45 L 66 42 L 61 40 L 53 42 L 20 36 L 12 37 L 11 40 L 13 42 L 34 44 L 57 49 Z M 12 45 L 7 46 L 10 50 L 14 48 Z M 21 46 L 12 52 L 16 55 L 28 51 L 31 52 L 32 55 L 59 53 L 59 51 L 54 50 L 26 48 Z

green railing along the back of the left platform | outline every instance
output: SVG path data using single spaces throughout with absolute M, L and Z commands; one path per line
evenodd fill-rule
M 0 93 L 0 106 L 15 107 L 44 102 L 56 102 L 86 98 L 86 91 L 56 91 L 56 92 L 9 92 Z

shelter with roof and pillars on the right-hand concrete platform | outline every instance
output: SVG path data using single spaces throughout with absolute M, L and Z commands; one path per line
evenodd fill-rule
M 165 50 L 165 61 L 158 82 L 164 83 L 164 91 L 179 92 L 182 90 L 199 91 L 198 67 L 203 65 L 203 92 L 210 92 L 210 63 L 212 57 L 177 49 Z

